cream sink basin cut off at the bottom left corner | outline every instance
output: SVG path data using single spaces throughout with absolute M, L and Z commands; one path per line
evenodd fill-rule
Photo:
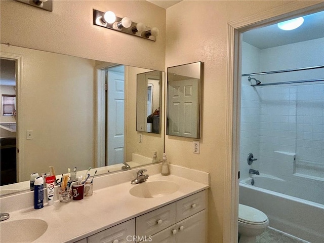
M 1 243 L 32 242 L 47 230 L 47 223 L 41 219 L 21 219 L 0 223 Z

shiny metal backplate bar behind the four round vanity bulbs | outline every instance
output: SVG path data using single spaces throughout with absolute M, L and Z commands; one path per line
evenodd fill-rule
M 131 26 L 128 27 L 128 28 L 125 28 L 125 27 L 116 28 L 117 24 L 115 24 L 114 25 L 115 28 L 113 28 L 113 23 L 110 24 L 110 23 L 107 23 L 107 22 L 103 21 L 104 14 L 105 14 L 105 12 L 101 12 L 99 10 L 94 9 L 94 11 L 93 11 L 93 24 L 104 27 L 104 28 L 107 28 L 107 29 L 112 29 L 112 30 L 116 30 L 116 31 L 119 31 L 119 32 L 123 32 L 123 33 L 131 34 L 131 35 L 135 35 L 135 36 L 138 36 L 138 37 L 142 37 L 144 39 L 149 39 L 150 41 L 153 41 L 153 42 L 156 41 L 156 36 L 153 36 L 153 35 L 147 36 L 147 35 L 145 35 L 145 32 L 150 31 L 152 28 L 147 27 L 147 26 L 145 26 L 143 24 L 143 26 L 145 26 L 145 29 L 143 31 L 135 31 L 137 23 L 135 23 L 133 21 L 132 21 Z M 120 18 L 120 17 L 116 16 L 115 23 L 121 22 L 122 19 L 123 18 Z M 118 26 L 120 26 L 120 24 Z

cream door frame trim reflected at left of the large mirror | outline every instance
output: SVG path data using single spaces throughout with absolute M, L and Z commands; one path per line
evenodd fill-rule
M 3 59 L 10 59 L 16 61 L 16 106 L 17 106 L 17 116 L 16 116 L 16 124 L 18 124 L 18 131 L 16 132 L 16 139 L 18 141 L 17 149 L 19 149 L 19 153 L 17 153 L 17 182 L 22 181 L 23 172 L 25 172 L 25 162 L 24 161 L 24 143 L 23 137 L 20 139 L 19 134 L 23 136 L 25 134 L 23 132 L 23 123 L 20 117 L 24 117 L 23 115 L 23 102 L 22 99 L 22 77 L 23 77 L 23 56 L 18 54 L 12 54 L 7 52 L 1 52 L 0 57 Z M 17 142 L 16 142 L 17 143 Z

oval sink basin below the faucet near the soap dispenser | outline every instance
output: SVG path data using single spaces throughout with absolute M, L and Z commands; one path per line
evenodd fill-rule
M 130 189 L 133 196 L 152 198 L 166 196 L 179 190 L 179 185 L 172 181 L 142 182 Z

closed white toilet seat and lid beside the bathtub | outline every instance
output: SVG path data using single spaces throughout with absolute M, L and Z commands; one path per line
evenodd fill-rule
M 260 210 L 239 204 L 238 221 L 246 224 L 262 225 L 268 222 L 268 217 Z

